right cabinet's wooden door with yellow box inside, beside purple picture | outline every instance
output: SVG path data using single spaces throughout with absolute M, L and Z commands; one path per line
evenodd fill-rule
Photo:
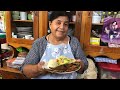
M 112 59 L 120 58 L 120 48 L 108 47 L 108 43 L 101 40 L 102 30 L 104 26 L 104 18 L 112 15 L 111 11 L 83 11 L 82 13 L 82 32 L 84 32 L 84 51 L 92 57 L 107 56 Z M 93 13 L 100 14 L 101 18 L 95 18 Z M 100 19 L 100 20 L 99 20 Z

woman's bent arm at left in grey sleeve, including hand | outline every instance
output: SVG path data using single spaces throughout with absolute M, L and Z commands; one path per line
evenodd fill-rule
M 39 44 L 39 39 L 33 43 L 25 61 L 20 67 L 22 73 L 28 78 L 34 78 L 40 74 L 44 74 L 44 70 L 41 68 L 44 63 L 40 62 Z

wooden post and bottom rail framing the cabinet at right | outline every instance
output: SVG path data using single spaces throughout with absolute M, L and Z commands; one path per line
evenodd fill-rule
M 112 59 L 120 59 L 120 48 L 110 48 L 107 45 L 91 45 L 91 31 L 93 27 L 99 28 L 102 30 L 103 24 L 92 24 L 92 11 L 83 11 L 82 13 L 82 26 L 81 26 L 81 35 L 80 41 L 83 44 L 83 49 L 86 55 L 91 57 L 96 56 L 107 56 Z

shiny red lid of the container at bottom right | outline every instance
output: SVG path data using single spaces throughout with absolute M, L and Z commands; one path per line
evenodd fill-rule
M 120 63 L 111 64 L 111 63 L 106 63 L 106 62 L 98 62 L 98 66 L 102 69 L 120 72 Z

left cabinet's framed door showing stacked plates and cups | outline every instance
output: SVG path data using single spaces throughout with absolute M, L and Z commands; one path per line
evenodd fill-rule
M 30 48 L 38 38 L 38 11 L 6 11 L 6 36 L 9 45 Z

